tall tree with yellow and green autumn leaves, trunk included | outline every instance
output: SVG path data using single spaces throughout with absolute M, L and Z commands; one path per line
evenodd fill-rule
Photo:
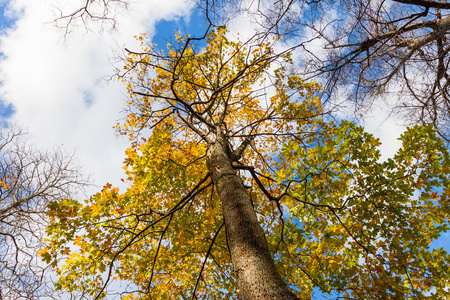
M 449 256 L 430 243 L 449 228 L 450 156 L 432 127 L 408 129 L 380 162 L 379 141 L 333 121 L 276 40 L 224 28 L 167 51 L 139 40 L 117 125 L 132 141 L 130 187 L 49 205 L 41 255 L 57 287 L 95 299 L 446 293 Z

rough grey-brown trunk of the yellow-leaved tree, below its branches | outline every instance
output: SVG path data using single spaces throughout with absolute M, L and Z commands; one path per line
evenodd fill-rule
M 251 199 L 233 169 L 225 137 L 207 152 L 207 166 L 217 188 L 240 294 L 245 300 L 298 299 L 281 279 Z

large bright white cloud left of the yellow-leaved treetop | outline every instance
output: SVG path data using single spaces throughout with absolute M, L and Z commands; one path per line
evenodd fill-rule
M 59 2 L 60 7 L 78 3 Z M 64 32 L 49 23 L 54 5 L 10 2 L 9 14 L 18 19 L 0 37 L 0 99 L 14 105 L 10 121 L 27 128 L 38 146 L 76 149 L 77 162 L 93 174 L 95 184 L 120 185 L 129 143 L 125 137 L 117 139 L 112 126 L 124 117 L 120 112 L 127 96 L 121 82 L 104 80 L 114 72 L 109 58 L 123 46 L 136 49 L 134 35 L 151 37 L 156 21 L 188 15 L 191 5 L 183 0 L 133 1 L 128 12 L 116 16 L 116 31 L 86 33 L 78 27 L 66 41 Z

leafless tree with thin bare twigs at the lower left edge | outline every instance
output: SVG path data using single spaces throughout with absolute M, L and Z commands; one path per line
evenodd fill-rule
M 85 181 L 60 150 L 37 151 L 23 131 L 0 129 L 0 299 L 53 295 L 48 267 L 38 259 L 50 201 L 69 197 Z

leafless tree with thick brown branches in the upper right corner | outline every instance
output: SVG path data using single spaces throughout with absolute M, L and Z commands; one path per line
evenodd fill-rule
M 450 4 L 395 0 L 340 6 L 345 14 L 331 25 L 333 32 L 312 27 L 330 50 L 326 61 L 316 60 L 314 71 L 328 74 L 330 86 L 351 85 L 350 97 L 359 105 L 383 93 L 396 95 L 394 110 L 409 124 L 432 124 L 450 141 Z

